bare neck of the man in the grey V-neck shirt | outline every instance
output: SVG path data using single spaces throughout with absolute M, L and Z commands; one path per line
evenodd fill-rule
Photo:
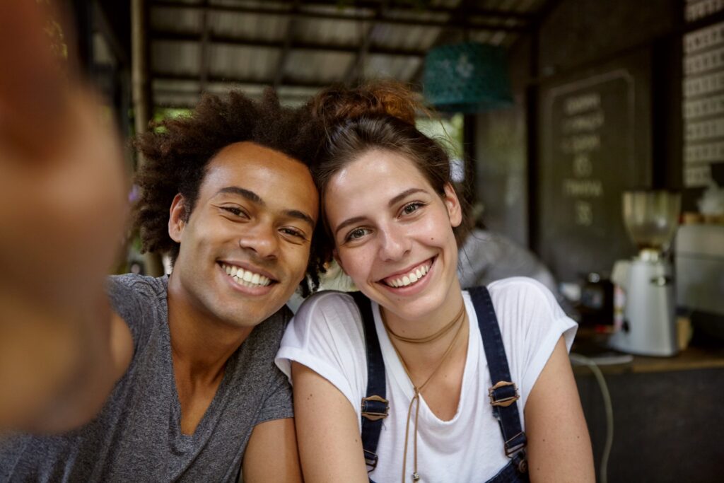
M 169 334 L 174 373 L 177 379 L 213 383 L 221 379 L 227 361 L 253 327 L 233 327 L 199 305 L 176 278 L 169 278 Z

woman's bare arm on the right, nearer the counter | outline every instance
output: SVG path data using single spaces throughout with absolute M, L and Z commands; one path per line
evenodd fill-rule
M 595 482 L 588 427 L 563 337 L 525 409 L 532 482 Z

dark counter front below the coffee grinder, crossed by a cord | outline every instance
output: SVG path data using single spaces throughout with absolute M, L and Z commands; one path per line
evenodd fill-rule
M 613 406 L 609 482 L 720 482 L 723 369 L 606 376 Z M 597 476 L 606 439 L 601 391 L 576 377 Z

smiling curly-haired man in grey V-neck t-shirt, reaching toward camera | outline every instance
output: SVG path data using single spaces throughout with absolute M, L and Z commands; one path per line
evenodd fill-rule
M 8 92 L 0 107 L 17 101 Z M 209 96 L 140 138 L 135 222 L 174 268 L 104 288 L 122 219 L 118 150 L 87 93 L 59 98 L 53 149 L 0 125 L 12 155 L 0 158 L 0 204 L 24 208 L 0 209 L 15 228 L 0 240 L 0 427 L 24 431 L 0 436 L 0 481 L 300 479 L 274 355 L 317 222 L 306 113 L 271 93 Z

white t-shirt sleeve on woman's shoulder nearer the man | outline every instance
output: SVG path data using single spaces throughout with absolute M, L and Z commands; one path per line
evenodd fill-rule
M 292 361 L 331 382 L 359 412 L 367 384 L 366 356 L 361 315 L 350 295 L 321 292 L 300 306 L 276 358 L 290 381 Z

